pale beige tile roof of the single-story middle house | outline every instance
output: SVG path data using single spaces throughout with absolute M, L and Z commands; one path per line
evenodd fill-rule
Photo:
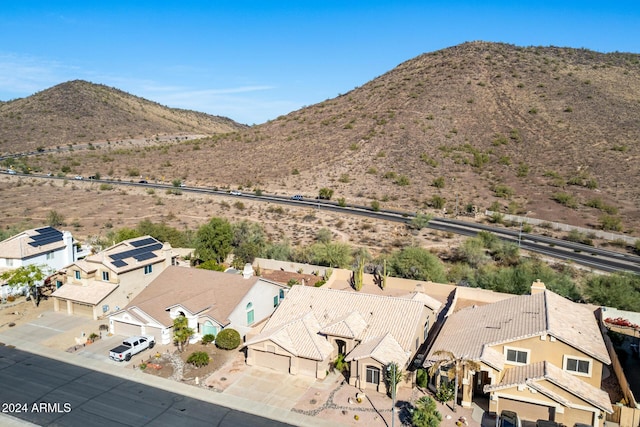
M 373 355 L 402 363 L 408 360 L 413 349 L 416 328 L 422 319 L 425 306 L 420 301 L 380 295 L 363 294 L 335 289 L 294 286 L 276 309 L 262 332 L 245 345 L 249 346 L 265 340 L 274 340 L 283 328 L 287 333 L 300 335 L 289 342 L 280 341 L 284 349 L 292 354 L 311 358 L 328 356 L 332 347 L 322 334 L 353 337 L 359 346 L 349 357 Z M 317 327 L 309 333 L 310 323 L 297 326 L 305 316 L 312 315 Z M 315 325 L 315 324 L 314 324 Z M 323 341 L 328 353 L 318 352 L 318 342 Z M 363 346 L 359 349 L 360 346 Z M 354 353 L 355 352 L 355 353 Z

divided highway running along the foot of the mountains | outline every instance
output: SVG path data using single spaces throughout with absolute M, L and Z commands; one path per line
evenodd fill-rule
M 2 160 L 0 158 L 0 160 Z M 1 171 L 3 174 L 8 174 L 6 170 Z M 20 174 L 15 173 L 11 176 L 14 177 L 30 177 L 30 178 L 40 178 L 40 179 L 70 179 L 66 177 L 56 177 L 56 176 L 47 176 L 47 175 L 38 175 L 38 174 Z M 145 187 L 145 188 L 155 188 L 155 189 L 174 189 L 192 193 L 200 193 L 200 194 L 210 194 L 215 196 L 225 196 L 225 197 L 238 197 L 244 199 L 251 199 L 259 202 L 271 202 L 271 203 L 279 203 L 286 204 L 298 207 L 309 207 L 315 209 L 323 209 L 330 210 L 334 212 L 339 212 L 341 214 L 346 215 L 359 215 L 366 216 L 369 218 L 380 219 L 384 221 L 393 221 L 404 224 L 409 224 L 411 220 L 415 217 L 415 213 L 412 212 L 404 212 L 397 210 L 374 210 L 368 206 L 357 206 L 357 205 L 348 205 L 342 206 L 340 203 L 331 200 L 318 200 L 318 199 L 302 199 L 302 200 L 292 200 L 289 196 L 278 196 L 273 194 L 262 193 L 260 195 L 254 193 L 242 193 L 240 195 L 230 195 L 229 192 L 216 189 L 216 188 L 205 188 L 205 187 L 192 187 L 192 186 L 184 186 L 184 187 L 175 187 L 169 184 L 159 184 L 152 182 L 140 183 L 137 181 L 119 181 L 112 179 L 99 179 L 99 180 L 83 180 L 85 182 L 95 182 L 100 184 L 111 184 L 111 185 L 124 185 L 124 186 L 136 186 L 136 187 Z M 573 262 L 575 264 L 582 265 L 584 267 L 605 271 L 605 272 L 616 272 L 616 271 L 627 271 L 640 274 L 640 257 L 609 251 L 601 248 L 595 248 L 593 246 L 588 246 L 580 243 L 574 243 L 567 240 L 555 239 L 552 237 L 542 236 L 538 234 L 531 233 L 520 233 L 520 230 L 510 230 L 502 227 L 495 227 L 485 224 L 479 224 L 470 221 L 461 221 L 457 219 L 449 219 L 449 218 L 433 218 L 429 221 L 429 228 L 434 230 L 440 230 L 448 233 L 455 233 L 465 236 L 475 236 L 480 231 L 488 231 L 500 239 L 511 241 L 514 243 L 519 243 L 520 247 L 523 250 L 531 251 L 538 253 L 540 255 L 544 255 L 547 257 L 552 257 L 556 259 L 560 259 L 563 261 Z

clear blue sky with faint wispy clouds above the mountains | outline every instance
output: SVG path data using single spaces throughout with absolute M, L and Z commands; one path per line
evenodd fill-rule
M 465 41 L 640 52 L 635 1 L 21 0 L 0 100 L 83 79 L 259 124 Z

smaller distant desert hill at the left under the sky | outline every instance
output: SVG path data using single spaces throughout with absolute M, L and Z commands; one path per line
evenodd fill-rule
M 242 129 L 225 117 L 168 108 L 121 90 L 74 80 L 0 103 L 0 151 L 155 135 Z

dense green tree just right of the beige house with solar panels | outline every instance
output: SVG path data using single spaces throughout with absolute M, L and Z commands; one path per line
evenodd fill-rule
M 196 233 L 195 255 L 202 261 L 216 260 L 222 264 L 231 253 L 233 230 L 229 221 L 223 218 L 211 218 Z

